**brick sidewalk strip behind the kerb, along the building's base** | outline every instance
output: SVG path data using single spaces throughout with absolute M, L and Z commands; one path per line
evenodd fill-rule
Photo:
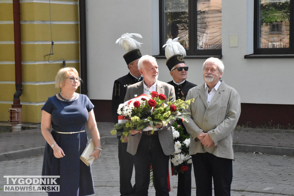
M 101 137 L 112 136 L 114 123 L 97 122 Z M 88 137 L 91 137 L 87 127 Z M 0 154 L 23 150 L 34 147 L 45 146 L 46 140 L 42 136 L 41 129 L 35 128 L 13 133 L 0 134 Z M 271 130 L 256 128 L 236 129 L 233 138 L 234 144 L 265 145 L 294 148 L 294 130 Z

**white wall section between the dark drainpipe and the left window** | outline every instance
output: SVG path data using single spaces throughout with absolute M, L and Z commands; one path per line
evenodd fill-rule
M 123 33 L 142 35 L 135 38 L 143 43 L 142 55 L 159 54 L 154 49 L 159 45 L 158 17 L 152 17 L 159 15 L 158 1 L 87 0 L 86 13 L 88 97 L 111 100 L 114 80 L 128 73 L 126 51 L 115 43 Z

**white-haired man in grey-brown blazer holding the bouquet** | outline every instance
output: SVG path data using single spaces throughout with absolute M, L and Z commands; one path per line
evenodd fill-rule
M 150 94 L 152 91 L 162 93 L 175 100 L 173 86 L 158 81 L 158 65 L 153 56 L 142 56 L 138 62 L 138 68 L 143 81 L 128 86 L 124 101 L 130 100 L 135 95 Z M 128 140 L 127 152 L 134 155 L 135 165 L 135 195 L 148 196 L 150 180 L 150 164 L 152 164 L 154 188 L 156 195 L 169 195 L 168 191 L 168 162 L 169 157 L 175 152 L 173 133 L 170 124 L 158 125 L 153 135 L 152 128 L 144 130 L 132 130 Z

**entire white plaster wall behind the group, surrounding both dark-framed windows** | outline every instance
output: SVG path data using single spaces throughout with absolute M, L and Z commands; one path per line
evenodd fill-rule
M 128 73 L 121 46 L 123 33 L 140 33 L 142 55 L 157 55 L 159 46 L 158 1 L 87 0 L 88 96 L 111 100 L 113 82 Z M 229 46 L 229 36 L 238 35 L 238 47 Z M 253 52 L 253 1 L 222 1 L 223 80 L 235 88 L 242 103 L 294 104 L 294 60 L 244 59 Z M 203 83 L 205 59 L 185 59 L 188 81 Z M 171 81 L 166 59 L 158 59 L 159 80 Z M 292 81 L 292 82 L 291 82 Z

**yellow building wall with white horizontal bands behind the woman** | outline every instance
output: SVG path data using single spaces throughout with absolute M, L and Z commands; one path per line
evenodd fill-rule
M 75 67 L 79 72 L 79 21 L 77 1 L 51 0 L 21 2 L 22 122 L 40 123 L 41 107 L 47 98 L 58 93 L 54 79 L 62 68 Z M 45 56 L 51 50 L 53 52 Z M 9 108 L 15 93 L 13 4 L 0 1 L 0 121 L 9 120 Z M 57 61 L 54 63 L 49 63 Z M 79 92 L 79 88 L 77 92 Z

